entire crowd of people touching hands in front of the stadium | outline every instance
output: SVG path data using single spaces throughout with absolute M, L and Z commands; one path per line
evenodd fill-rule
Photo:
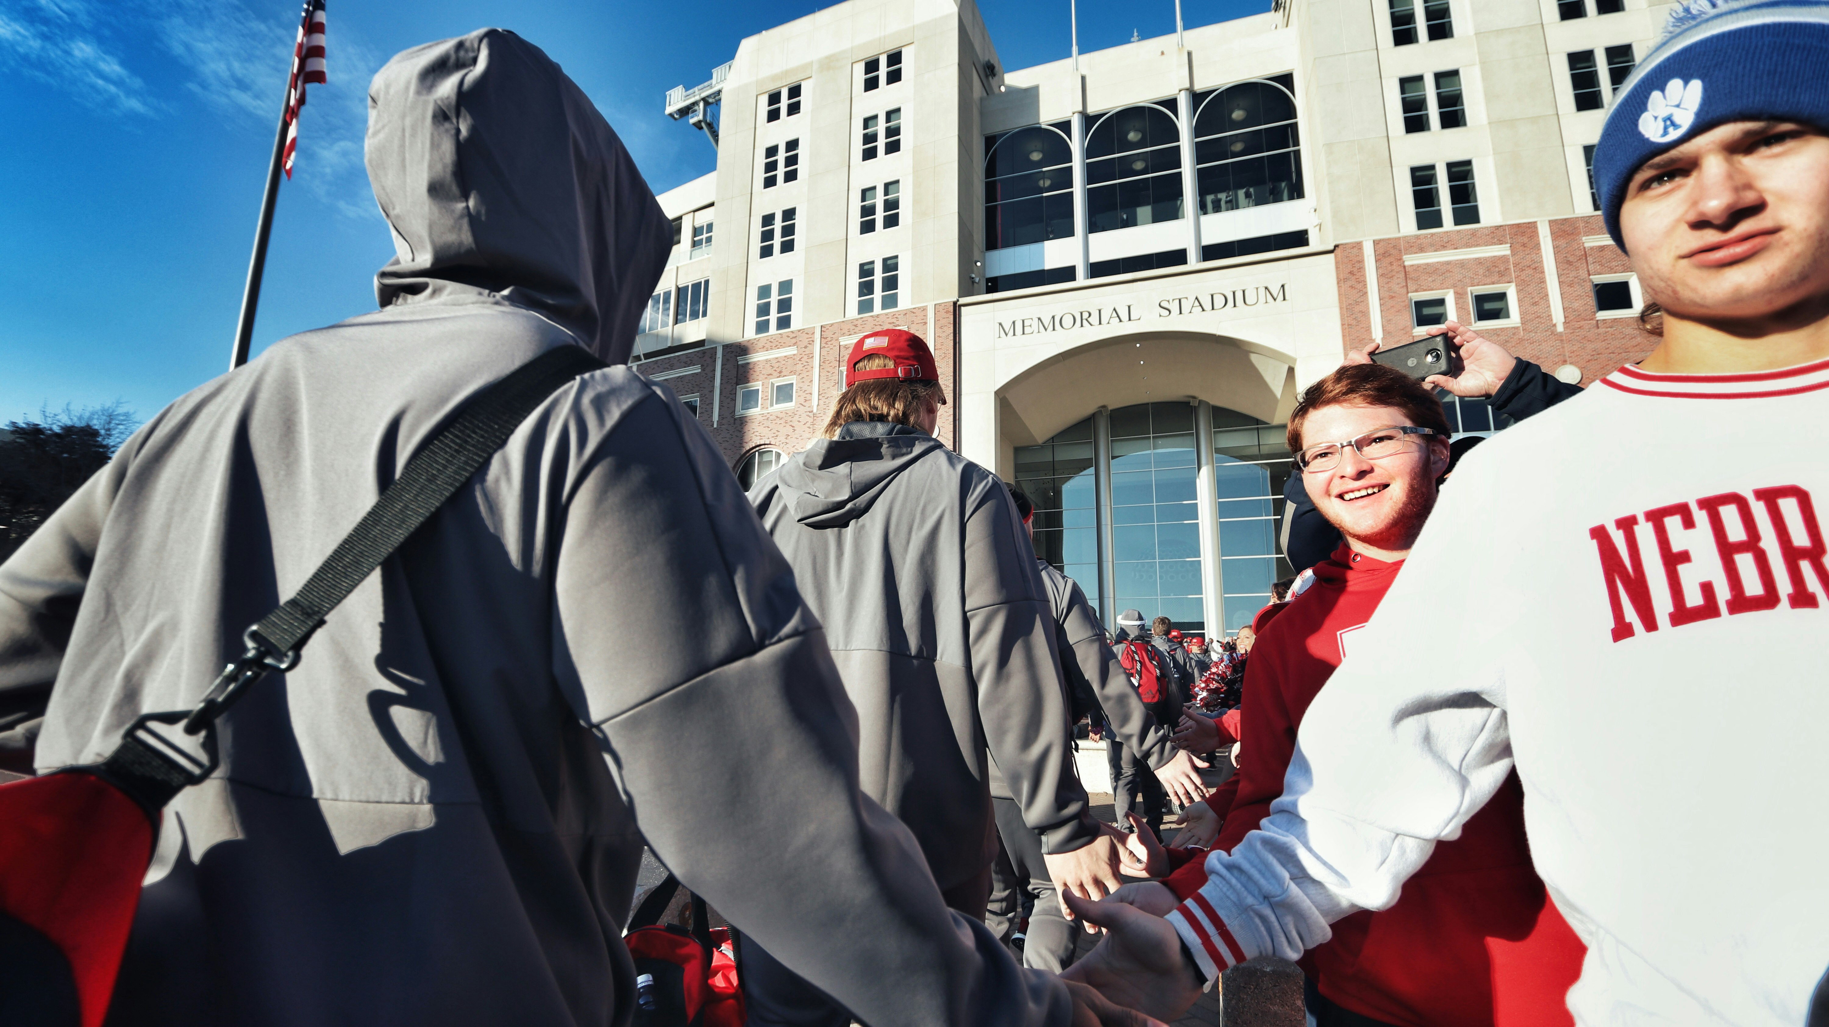
M 223 718 L 110 1023 L 629 1023 L 644 848 L 757 1025 L 1156 1023 L 1257 956 L 1321 1027 L 1829 1023 L 1825 60 L 1820 0 L 1683 7 L 1593 165 L 1652 351 L 1588 390 L 1454 322 L 1447 375 L 1350 353 L 1288 421 L 1300 575 L 1193 637 L 1037 560 L 909 331 L 744 494 L 626 366 L 668 220 L 591 101 L 499 29 L 397 55 L 380 309 L 176 401 L 0 564 L 0 763 L 196 705 L 481 390 L 607 366 Z M 1434 390 L 1520 425 L 1456 463 Z

